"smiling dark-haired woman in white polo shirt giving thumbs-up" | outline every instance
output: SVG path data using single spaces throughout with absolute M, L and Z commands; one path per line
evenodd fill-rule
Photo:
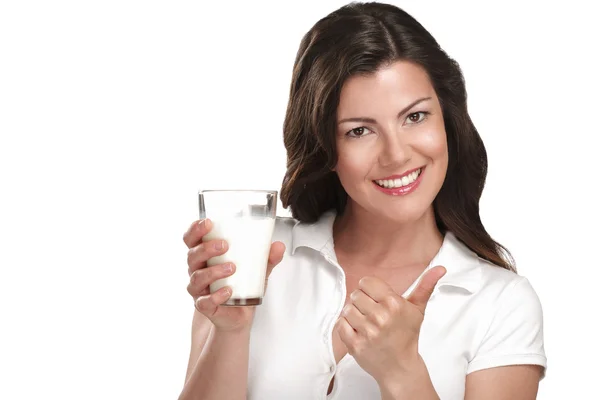
M 260 307 L 209 294 L 235 272 L 206 267 L 227 251 L 202 242 L 209 220 L 184 235 L 196 312 L 180 398 L 534 399 L 540 303 L 480 221 L 485 148 L 434 38 L 386 4 L 317 22 L 284 140 L 294 219 L 278 219 Z

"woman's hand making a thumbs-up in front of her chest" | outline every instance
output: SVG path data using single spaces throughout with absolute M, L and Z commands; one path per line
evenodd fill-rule
M 336 322 L 342 342 L 358 365 L 380 386 L 397 379 L 420 360 L 418 341 L 427 302 L 446 273 L 427 271 L 406 299 L 386 282 L 363 277 Z

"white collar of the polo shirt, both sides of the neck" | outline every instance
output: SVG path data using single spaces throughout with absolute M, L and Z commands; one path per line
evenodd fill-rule
M 333 250 L 335 217 L 335 210 L 329 210 L 314 223 L 297 222 L 292 230 L 292 254 L 299 247 L 309 247 L 321 253 L 328 261 L 335 260 Z M 436 285 L 436 290 L 443 286 L 454 286 L 475 293 L 483 285 L 479 257 L 452 232 L 446 233 L 440 250 L 425 271 L 436 265 L 444 266 L 447 271 Z M 407 293 L 412 292 L 416 284 L 417 282 L 408 289 Z

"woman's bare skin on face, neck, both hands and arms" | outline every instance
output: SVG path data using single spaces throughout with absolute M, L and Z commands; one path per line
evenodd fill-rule
M 421 98 L 429 99 L 398 115 Z M 341 122 L 355 117 L 375 121 Z M 432 268 L 408 298 L 398 294 L 421 274 L 443 240 L 432 208 L 448 165 L 438 99 L 423 70 L 397 62 L 373 75 L 349 79 L 342 89 L 338 120 L 336 171 L 350 199 L 334 224 L 336 255 L 346 273 L 348 293 L 334 329 L 336 361 L 350 352 L 379 383 L 385 400 L 438 399 L 417 343 L 427 302 L 445 268 Z M 365 129 L 357 129 L 361 127 Z M 407 196 L 392 197 L 373 186 L 374 179 L 423 166 L 420 186 Z M 227 251 L 226 242 L 202 241 L 210 229 L 209 220 L 197 221 L 184 235 L 188 292 L 196 310 L 182 400 L 199 393 L 203 398 L 246 396 L 254 307 L 221 306 L 230 296 L 226 288 L 210 294 L 210 283 L 235 271 L 235 265 L 230 270 L 225 265 L 207 267 L 209 258 Z M 267 277 L 284 250 L 281 242 L 272 245 Z M 540 371 L 525 365 L 474 372 L 467 376 L 465 398 L 535 399 Z

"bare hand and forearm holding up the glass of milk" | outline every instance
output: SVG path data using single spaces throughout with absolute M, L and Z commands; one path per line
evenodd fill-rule
M 235 265 L 207 266 L 209 258 L 224 254 L 228 245 L 222 240 L 202 238 L 210 232 L 208 219 L 194 222 L 183 236 L 188 247 L 188 293 L 195 310 L 192 321 L 192 346 L 180 400 L 244 399 L 248 385 L 250 327 L 255 307 L 226 307 L 228 287 L 210 293 L 210 284 L 235 272 Z M 275 242 L 267 262 L 267 279 L 281 262 L 285 245 Z M 265 287 L 266 290 L 266 287 Z M 235 382 L 235 384 L 232 384 Z

